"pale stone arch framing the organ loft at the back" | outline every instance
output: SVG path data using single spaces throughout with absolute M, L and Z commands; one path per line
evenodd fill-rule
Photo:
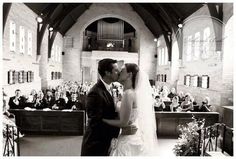
M 74 48 L 65 50 L 68 52 L 66 56 L 69 54 L 73 54 L 73 60 L 77 58 L 77 62 L 73 63 L 73 66 L 70 65 L 69 68 L 65 68 L 65 70 L 73 69 L 74 67 L 78 67 L 81 69 L 81 58 L 82 58 L 82 49 L 83 49 L 83 33 L 84 30 L 89 26 L 92 22 L 106 17 L 114 17 L 126 21 L 136 30 L 136 46 L 138 50 L 138 64 L 142 67 L 146 72 L 149 73 L 150 78 L 155 77 L 155 44 L 153 42 L 154 36 L 148 30 L 143 20 L 139 15 L 132 9 L 129 4 L 93 4 L 90 6 L 88 10 L 84 12 L 78 19 L 77 22 L 72 26 L 72 28 L 67 32 L 65 36 L 74 37 Z M 64 56 L 64 57 L 66 57 Z M 72 57 L 70 58 L 72 59 Z M 68 65 L 68 61 L 66 61 Z M 66 72 L 70 77 L 76 76 L 75 78 L 78 80 L 81 77 L 81 72 L 72 73 Z M 65 74 L 65 76 L 67 76 Z

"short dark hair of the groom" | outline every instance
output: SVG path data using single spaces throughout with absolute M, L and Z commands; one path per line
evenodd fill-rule
M 100 74 L 101 77 L 105 76 L 105 72 L 112 72 L 113 69 L 113 64 L 117 63 L 117 60 L 113 60 L 113 59 L 102 59 L 98 62 L 98 73 Z

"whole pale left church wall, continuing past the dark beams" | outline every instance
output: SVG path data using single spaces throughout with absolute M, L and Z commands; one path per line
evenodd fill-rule
M 56 86 L 62 82 L 61 80 L 51 81 L 51 72 L 62 72 L 61 62 L 51 62 L 48 60 L 48 30 L 46 29 L 42 45 L 41 56 L 37 56 L 37 15 L 23 3 L 12 3 L 9 15 L 7 17 L 5 29 L 3 32 L 3 54 L 2 54 L 2 87 L 8 96 L 13 96 L 16 89 L 21 89 L 22 94 L 29 94 L 32 89 L 37 91 L 45 89 L 50 85 Z M 10 51 L 10 21 L 16 24 L 16 51 Z M 25 53 L 20 53 L 20 26 L 25 28 Z M 27 32 L 32 32 L 32 55 L 27 54 Z M 57 33 L 54 44 L 63 49 L 63 37 Z M 33 82 L 24 82 L 17 84 L 8 84 L 8 71 L 33 71 Z

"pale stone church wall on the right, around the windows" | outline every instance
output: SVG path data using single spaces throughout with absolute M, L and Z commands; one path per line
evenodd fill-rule
M 233 22 L 232 22 L 231 4 L 223 6 L 223 22 L 210 17 L 208 7 L 205 5 L 184 21 L 183 29 L 183 50 L 179 53 L 176 39 L 173 36 L 172 43 L 172 62 L 165 66 L 156 67 L 157 74 L 167 74 L 167 82 L 157 82 L 158 85 L 167 85 L 176 87 L 177 91 L 189 92 L 198 103 L 201 103 L 205 96 L 211 98 L 211 104 L 215 110 L 221 111 L 223 105 L 233 105 Z M 210 28 L 209 57 L 197 60 L 186 60 L 187 36 L 194 37 L 196 32 L 200 32 L 201 45 L 200 54 L 203 52 L 203 30 Z M 214 31 L 216 29 L 216 31 Z M 223 30 L 222 37 L 218 34 Z M 220 37 L 220 38 L 219 38 Z M 164 42 L 164 38 L 160 37 Z M 219 46 L 222 44 L 222 50 Z M 182 53 L 182 59 L 179 54 Z M 158 61 L 158 59 L 157 59 Z M 184 85 L 184 76 L 190 75 L 208 75 L 210 85 L 208 89 Z

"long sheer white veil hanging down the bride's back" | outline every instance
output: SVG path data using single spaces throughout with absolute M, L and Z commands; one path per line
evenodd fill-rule
M 138 110 L 138 126 L 144 145 L 144 155 L 155 155 L 155 152 L 158 150 L 158 144 L 152 88 L 147 74 L 142 70 L 139 70 L 136 75 L 135 93 Z

